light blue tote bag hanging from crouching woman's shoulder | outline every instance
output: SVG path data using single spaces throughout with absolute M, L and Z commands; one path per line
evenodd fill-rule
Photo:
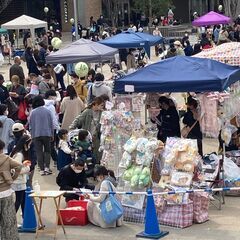
M 109 181 L 107 182 L 109 191 L 112 192 L 112 186 Z M 100 210 L 101 216 L 107 224 L 112 224 L 123 215 L 123 207 L 113 194 L 109 194 L 108 197 L 100 203 Z

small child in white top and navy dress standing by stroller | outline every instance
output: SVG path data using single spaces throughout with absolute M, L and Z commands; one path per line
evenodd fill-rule
M 63 167 L 72 163 L 71 155 L 73 152 L 67 143 L 68 131 L 66 129 L 59 130 L 58 137 L 60 141 L 58 145 L 57 169 L 60 171 Z

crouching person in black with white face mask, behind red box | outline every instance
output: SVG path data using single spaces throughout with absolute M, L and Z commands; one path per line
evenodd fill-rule
M 74 163 L 69 164 L 61 169 L 56 182 L 60 190 L 77 191 L 80 188 L 94 189 L 93 185 L 89 185 L 84 170 L 85 162 L 82 159 L 77 159 Z M 79 199 L 77 194 L 64 194 L 66 202 Z

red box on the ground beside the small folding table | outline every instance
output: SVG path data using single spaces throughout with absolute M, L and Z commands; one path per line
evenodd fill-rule
M 60 214 L 62 216 L 64 225 L 77 225 L 77 226 L 85 226 L 88 224 L 88 216 L 87 216 L 87 204 L 88 201 L 69 201 L 67 203 L 66 209 L 60 209 Z M 77 209 L 77 207 L 81 207 L 81 209 Z M 58 221 L 60 225 L 60 221 Z

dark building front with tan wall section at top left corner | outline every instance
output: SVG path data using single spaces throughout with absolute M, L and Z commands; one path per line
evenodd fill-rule
M 49 9 L 44 12 L 44 7 Z M 78 20 L 83 26 L 89 26 L 91 16 L 95 20 L 102 13 L 102 0 L 77 0 Z M 54 19 L 62 27 L 62 31 L 70 31 L 70 19 L 74 17 L 73 0 L 5 0 L 0 2 L 0 24 L 23 14 L 48 21 Z

